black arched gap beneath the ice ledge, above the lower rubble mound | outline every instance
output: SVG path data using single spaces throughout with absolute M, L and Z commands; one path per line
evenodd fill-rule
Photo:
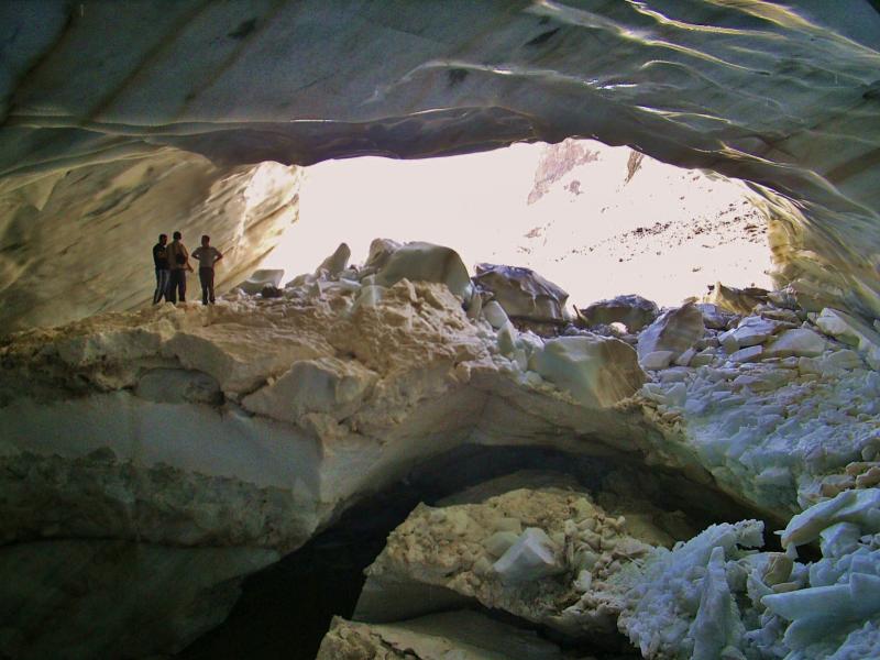
M 645 465 L 626 455 L 575 454 L 540 447 L 465 444 L 422 462 L 400 480 L 346 508 L 305 546 L 279 562 L 248 576 L 227 619 L 176 657 L 315 658 L 334 616 L 351 619 L 373 563 L 395 530 L 420 504 L 447 507 L 476 503 L 517 487 L 576 488 L 617 513 L 637 493 L 669 514 L 670 536 L 685 540 L 718 522 L 760 518 L 727 495 L 697 484 L 680 472 Z M 615 504 L 619 503 L 619 504 Z M 344 507 L 343 507 L 344 508 Z M 778 547 L 765 524 L 765 543 Z M 462 607 L 461 604 L 458 607 Z M 569 637 L 479 602 L 463 607 L 516 629 L 537 632 L 561 649 L 596 658 L 638 658 L 623 634 Z M 454 609 L 439 605 L 437 612 Z

